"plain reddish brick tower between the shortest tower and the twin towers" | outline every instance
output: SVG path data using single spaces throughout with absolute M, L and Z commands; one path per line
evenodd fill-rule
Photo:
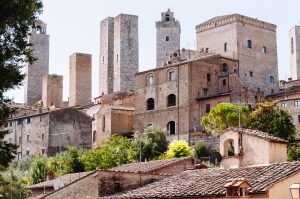
M 69 106 L 85 105 L 92 98 L 92 55 L 70 56 Z

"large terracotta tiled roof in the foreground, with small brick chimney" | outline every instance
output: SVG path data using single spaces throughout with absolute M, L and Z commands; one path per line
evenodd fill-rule
M 300 162 L 282 162 L 267 166 L 235 169 L 187 170 L 144 187 L 104 197 L 126 198 L 189 198 L 224 196 L 224 185 L 232 178 L 245 178 L 250 184 L 249 193 L 268 191 L 278 182 L 300 172 Z

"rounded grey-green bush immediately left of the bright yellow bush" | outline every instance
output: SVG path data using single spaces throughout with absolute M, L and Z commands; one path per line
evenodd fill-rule
M 155 127 L 148 127 L 142 135 L 135 135 L 136 144 L 142 148 L 142 160 L 158 159 L 168 150 L 167 132 Z

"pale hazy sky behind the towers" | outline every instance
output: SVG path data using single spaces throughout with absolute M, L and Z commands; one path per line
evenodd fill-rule
M 155 21 L 170 8 L 181 24 L 181 47 L 195 49 L 195 26 L 212 17 L 239 13 L 277 25 L 279 77 L 289 77 L 288 31 L 300 25 L 299 0 L 44 0 L 40 18 L 50 35 L 50 74 L 64 76 L 64 100 L 69 95 L 69 55 L 92 54 L 93 97 L 98 96 L 100 21 L 120 13 L 139 16 L 139 71 L 155 67 Z M 285 75 L 286 74 L 286 75 Z M 23 102 L 24 91 L 10 91 Z

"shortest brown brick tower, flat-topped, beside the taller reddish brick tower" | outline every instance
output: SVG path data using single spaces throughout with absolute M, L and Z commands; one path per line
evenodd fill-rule
M 63 103 L 63 76 L 45 75 L 43 76 L 43 106 L 48 108 L 55 106 L 62 107 Z

